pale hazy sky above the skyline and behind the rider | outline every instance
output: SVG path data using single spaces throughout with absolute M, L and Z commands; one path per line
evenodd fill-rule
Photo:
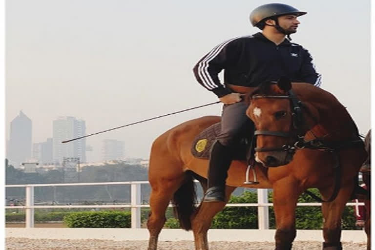
M 52 137 L 52 121 L 75 116 L 94 133 L 217 100 L 192 67 L 217 44 L 258 32 L 249 14 L 262 0 L 6 1 L 6 138 L 22 110 L 33 142 Z M 284 0 L 308 14 L 293 42 L 307 48 L 321 87 L 370 128 L 370 1 Z M 221 105 L 87 138 L 126 142 L 127 157 L 148 158 L 152 141 L 189 119 L 218 115 Z

